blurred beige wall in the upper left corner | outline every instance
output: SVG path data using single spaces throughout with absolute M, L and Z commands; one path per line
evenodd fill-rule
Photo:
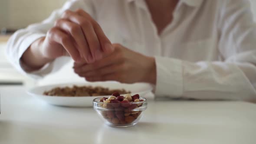
M 0 28 L 22 28 L 46 19 L 66 0 L 0 0 Z

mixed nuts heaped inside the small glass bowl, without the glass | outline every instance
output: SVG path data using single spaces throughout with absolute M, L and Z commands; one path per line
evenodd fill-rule
M 134 111 L 135 108 L 141 107 L 144 101 L 140 99 L 138 94 L 131 96 L 126 94 L 121 96 L 115 92 L 109 98 L 101 98 L 102 108 L 107 108 L 109 111 L 101 111 L 103 118 L 107 119 L 112 124 L 131 124 L 135 121 L 142 111 Z

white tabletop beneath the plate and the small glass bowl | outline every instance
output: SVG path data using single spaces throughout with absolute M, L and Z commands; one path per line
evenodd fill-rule
M 0 87 L 0 144 L 256 144 L 256 105 L 149 101 L 141 121 L 111 128 L 92 108 L 48 105 L 23 87 Z

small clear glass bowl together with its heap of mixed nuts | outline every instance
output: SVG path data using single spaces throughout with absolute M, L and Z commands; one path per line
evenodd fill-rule
M 142 111 L 148 107 L 146 98 L 138 94 L 120 95 L 113 93 L 108 98 L 100 97 L 93 100 L 93 108 L 105 124 L 112 127 L 130 127 L 142 118 Z

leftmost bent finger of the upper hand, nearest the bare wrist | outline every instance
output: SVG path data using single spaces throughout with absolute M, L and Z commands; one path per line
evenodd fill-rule
M 68 34 L 62 32 L 61 29 L 56 27 L 50 29 L 48 33 L 50 39 L 52 39 L 56 43 L 61 44 L 75 62 L 79 62 L 81 60 L 79 52 L 77 51 L 77 49 L 75 49 L 72 40 L 70 39 L 70 36 Z M 63 56 L 64 55 L 66 55 L 65 51 L 63 51 Z

